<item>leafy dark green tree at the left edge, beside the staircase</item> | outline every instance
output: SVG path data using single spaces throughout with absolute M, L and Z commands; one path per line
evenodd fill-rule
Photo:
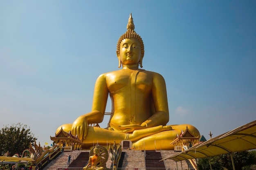
M 30 143 L 34 145 L 36 139 L 27 125 L 21 123 L 12 124 L 10 127 L 5 125 L 0 130 L 0 155 L 7 151 L 9 151 L 9 156 L 16 153 L 21 155 L 25 149 L 29 148 Z

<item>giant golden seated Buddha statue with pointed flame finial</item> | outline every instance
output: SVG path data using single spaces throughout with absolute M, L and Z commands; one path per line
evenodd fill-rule
M 132 15 L 127 31 L 117 42 L 117 58 L 122 69 L 101 74 L 95 83 L 92 111 L 79 116 L 73 124 L 57 128 L 77 135 L 90 148 L 94 142 L 106 145 L 115 140 L 130 140 L 136 149 L 171 150 L 170 142 L 186 130 L 194 136 L 199 131 L 191 125 L 168 125 L 169 111 L 166 84 L 162 75 L 142 68 L 144 44 L 134 31 Z M 139 66 L 141 68 L 139 68 Z M 112 102 L 107 128 L 89 126 L 103 121 L 108 95 Z

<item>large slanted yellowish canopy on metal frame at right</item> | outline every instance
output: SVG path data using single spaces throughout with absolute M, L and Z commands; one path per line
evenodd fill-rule
M 182 161 L 229 153 L 235 170 L 232 153 L 252 149 L 256 149 L 256 120 L 162 160 Z

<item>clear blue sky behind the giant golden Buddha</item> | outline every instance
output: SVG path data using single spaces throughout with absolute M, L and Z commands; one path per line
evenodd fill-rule
M 256 120 L 255 0 L 2 0 L 0 125 L 26 124 L 51 144 L 90 112 L 97 77 L 119 69 L 130 13 L 143 68 L 166 80 L 169 125 L 209 139 Z

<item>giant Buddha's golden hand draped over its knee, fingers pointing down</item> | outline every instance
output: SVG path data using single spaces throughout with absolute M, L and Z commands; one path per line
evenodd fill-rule
M 88 122 L 85 115 L 79 116 L 72 124 L 71 133 L 82 140 L 86 137 L 88 130 Z

